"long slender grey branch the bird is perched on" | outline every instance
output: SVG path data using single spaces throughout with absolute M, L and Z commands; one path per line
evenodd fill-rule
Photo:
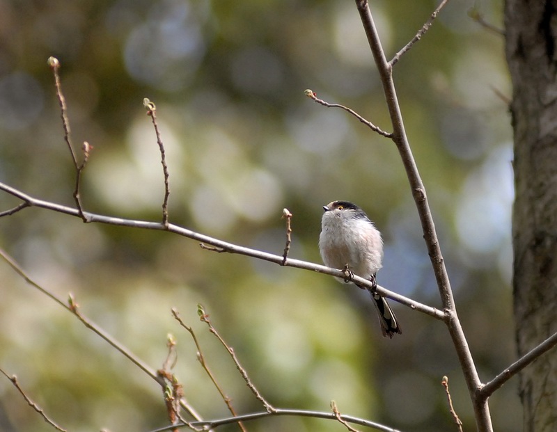
M 26 202 L 27 207 L 40 207 L 42 209 L 47 209 L 51 211 L 57 211 L 58 213 L 68 214 L 69 216 L 76 216 L 79 217 L 79 212 L 76 209 L 72 209 L 72 207 L 67 207 L 63 205 L 56 204 L 55 202 L 49 202 L 44 200 L 39 200 L 38 198 L 33 198 L 31 195 L 28 195 L 19 189 L 15 189 L 12 186 L 8 186 L 7 184 L 0 182 L 0 191 L 5 191 L 10 195 L 19 198 Z M 188 239 L 196 240 L 203 243 L 203 248 L 209 250 L 215 250 L 217 252 L 226 252 L 226 253 L 237 253 L 240 255 L 245 255 L 247 257 L 253 257 L 257 259 L 262 259 L 264 261 L 273 262 L 274 264 L 281 265 L 283 261 L 283 257 L 281 255 L 274 255 L 272 253 L 262 252 L 261 250 L 245 248 L 244 246 L 238 246 L 234 243 L 228 243 L 226 241 L 222 241 L 219 239 L 215 239 L 214 237 L 209 237 L 205 234 L 200 234 L 195 231 L 187 230 L 187 228 L 180 227 L 178 225 L 173 225 L 172 223 L 168 224 L 168 227 L 164 227 L 162 223 L 158 222 L 149 222 L 149 221 L 137 221 L 134 219 L 123 219 L 123 218 L 115 218 L 111 216 L 104 216 L 101 214 L 93 214 L 86 212 L 86 216 L 89 220 L 93 223 L 104 223 L 107 225 L 118 225 L 123 227 L 133 227 L 133 228 L 141 228 L 144 230 L 166 230 L 168 232 L 172 232 L 173 234 L 178 234 L 183 237 L 187 237 Z M 207 246 L 210 245 L 210 246 Z M 327 266 L 322 266 L 320 264 L 314 264 L 312 262 L 301 261 L 301 259 L 293 259 L 289 258 L 288 262 L 286 262 L 285 266 L 293 267 L 295 269 L 304 269 L 304 270 L 311 270 L 317 273 L 324 273 L 327 275 L 335 276 L 336 278 L 344 278 L 345 273 L 339 269 L 331 269 Z M 354 275 L 352 278 L 354 282 L 357 282 L 358 285 L 363 285 L 364 287 L 372 288 L 373 285 L 369 280 L 361 278 L 359 276 Z M 430 317 L 440 320 L 448 319 L 448 315 L 435 308 L 418 301 L 415 301 L 409 297 L 402 296 L 397 294 L 393 291 L 389 291 L 384 287 L 377 285 L 377 293 L 381 296 L 392 298 L 394 301 L 401 303 L 402 305 L 406 305 L 413 310 L 418 312 L 422 312 L 423 314 L 427 314 Z

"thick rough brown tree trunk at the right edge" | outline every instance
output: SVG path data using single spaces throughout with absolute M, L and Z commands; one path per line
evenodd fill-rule
M 515 134 L 513 292 L 517 350 L 557 330 L 557 0 L 506 0 Z M 494 185 L 496 186 L 496 185 Z M 520 375 L 524 431 L 557 431 L 557 353 Z

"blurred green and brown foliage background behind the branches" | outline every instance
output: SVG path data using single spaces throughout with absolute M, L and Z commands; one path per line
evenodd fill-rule
M 434 1 L 377 0 L 388 56 L 410 40 Z M 427 188 L 460 318 L 480 377 L 515 358 L 510 291 L 512 143 L 502 1 L 454 1 L 395 67 L 402 113 Z M 294 214 L 291 257 L 320 262 L 322 205 L 352 200 L 386 241 L 379 284 L 439 307 L 439 295 L 398 152 L 345 112 L 390 130 L 382 88 L 354 2 L 347 0 L 0 1 L 0 179 L 73 205 L 56 56 L 74 143 L 94 150 L 84 207 L 160 220 L 157 117 L 171 173 L 170 219 L 204 234 L 281 254 L 283 207 Z M 0 195 L 1 209 L 17 202 Z M 1 246 L 152 367 L 166 335 L 175 373 L 205 417 L 228 415 L 196 362 L 176 307 L 238 412 L 262 410 L 228 355 L 198 321 L 203 303 L 253 382 L 279 407 L 329 410 L 403 431 L 454 430 L 441 377 L 472 430 L 471 404 L 442 323 L 394 305 L 404 334 L 383 339 L 365 293 L 328 276 L 211 253 L 164 232 L 81 223 L 26 209 L 0 220 Z M 167 424 L 162 392 L 122 355 L 0 263 L 0 365 L 71 431 L 148 431 Z M 521 430 L 516 381 L 490 398 L 496 429 Z M 281 417 L 249 431 L 342 431 Z M 51 431 L 0 379 L 0 429 Z M 219 430 L 232 431 L 236 426 Z

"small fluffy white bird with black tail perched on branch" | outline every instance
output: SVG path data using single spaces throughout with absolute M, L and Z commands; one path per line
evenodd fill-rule
M 375 274 L 382 267 L 383 240 L 368 215 L 350 201 L 333 201 L 323 206 L 319 252 L 326 266 L 345 269 L 350 274 L 369 279 L 374 287 Z M 340 282 L 348 283 L 349 278 Z M 366 289 L 354 284 L 361 289 Z M 379 315 L 383 336 L 402 333 L 398 321 L 387 303 L 375 289 L 370 290 Z

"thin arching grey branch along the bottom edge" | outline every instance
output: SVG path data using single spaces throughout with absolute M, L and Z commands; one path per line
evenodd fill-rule
M 284 408 L 275 408 L 274 412 L 268 413 L 267 411 L 262 411 L 260 413 L 250 413 L 239 415 L 238 417 L 226 417 L 223 419 L 214 419 L 214 420 L 204 420 L 203 422 L 190 422 L 191 426 L 194 427 L 201 427 L 203 430 L 214 429 L 218 426 L 223 426 L 225 424 L 232 424 L 239 421 L 248 422 L 251 420 L 262 419 L 265 417 L 272 417 L 275 415 L 285 415 L 285 416 L 295 416 L 295 417 L 312 417 L 315 419 L 327 419 L 327 420 L 334 420 L 335 422 L 338 421 L 336 415 L 334 413 L 322 412 L 322 411 L 310 411 L 310 410 L 290 410 Z M 371 429 L 375 429 L 376 431 L 381 432 L 400 432 L 399 429 L 393 429 L 389 426 L 385 426 L 384 424 L 370 422 L 370 420 L 361 419 L 359 417 L 354 417 L 352 415 L 340 415 L 340 418 L 345 420 L 346 422 L 350 422 L 352 424 L 358 424 L 359 426 L 366 426 Z M 164 426 L 159 429 L 155 429 L 150 432 L 164 432 L 164 431 L 171 431 L 175 426 Z

